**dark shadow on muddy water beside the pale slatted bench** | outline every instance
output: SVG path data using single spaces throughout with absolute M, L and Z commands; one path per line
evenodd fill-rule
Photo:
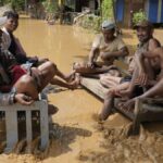
M 53 124 L 51 135 L 52 141 L 48 156 L 54 158 L 72 151 L 70 145 L 75 142 L 76 137 L 90 137 L 92 133 L 78 127 L 60 126 L 59 124 Z

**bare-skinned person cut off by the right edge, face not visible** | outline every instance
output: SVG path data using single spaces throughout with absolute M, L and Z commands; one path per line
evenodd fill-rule
M 149 72 L 146 68 L 146 65 L 143 64 L 143 60 L 158 60 L 160 61 L 160 71 L 159 73 L 154 73 L 154 71 L 152 71 L 153 77 L 151 78 L 151 72 Z M 150 87 L 146 92 L 143 92 L 142 95 L 135 97 L 133 99 L 130 99 L 129 101 L 127 101 L 126 103 L 122 104 L 122 106 L 124 109 L 127 109 L 127 111 L 130 111 L 136 101 L 136 99 L 142 99 L 142 98 L 155 98 L 155 97 L 163 97 L 163 48 L 156 48 L 153 49 L 151 51 L 147 51 L 141 53 L 141 55 L 139 55 L 139 62 L 140 62 L 140 71 L 139 74 L 145 74 L 146 77 L 143 77 L 143 79 L 141 79 L 141 82 L 143 83 L 145 86 Z M 142 75 L 141 75 L 142 76 Z M 145 79 L 146 78 L 146 79 Z

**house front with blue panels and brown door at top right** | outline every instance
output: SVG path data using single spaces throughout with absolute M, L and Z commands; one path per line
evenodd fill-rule
M 131 26 L 135 12 L 142 9 L 152 23 L 163 23 L 163 0 L 115 0 L 115 17 L 123 26 Z

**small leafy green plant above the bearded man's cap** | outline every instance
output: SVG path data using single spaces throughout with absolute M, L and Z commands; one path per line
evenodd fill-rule
M 134 25 L 136 25 L 137 23 L 139 23 L 140 21 L 147 20 L 147 15 L 145 13 L 145 11 L 139 10 L 138 12 L 135 12 L 133 15 L 133 23 Z

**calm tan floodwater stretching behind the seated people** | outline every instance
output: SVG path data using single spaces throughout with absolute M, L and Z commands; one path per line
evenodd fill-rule
M 42 21 L 22 20 L 16 35 L 28 54 L 39 54 L 54 61 L 64 72 L 73 62 L 85 59 L 93 35 L 72 26 L 48 25 Z

